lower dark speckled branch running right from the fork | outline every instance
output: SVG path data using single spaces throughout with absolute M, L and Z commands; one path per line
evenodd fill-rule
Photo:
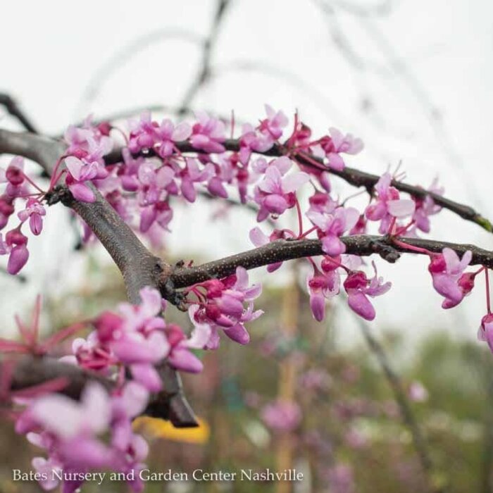
M 379 254 L 391 263 L 394 263 L 399 258 L 398 252 L 418 253 L 396 245 L 390 237 L 355 235 L 341 237 L 341 240 L 346 245 L 347 254 L 358 256 Z M 399 238 L 399 240 L 411 246 L 428 249 L 434 253 L 440 253 L 446 246 L 456 251 L 459 256 L 470 250 L 473 252 L 473 259 L 470 262 L 471 265 L 482 265 L 493 268 L 493 251 L 480 249 L 475 245 L 437 242 L 432 239 L 421 238 Z M 166 280 L 168 282 L 171 281 L 173 286 L 178 289 L 215 277 L 226 277 L 235 273 L 236 268 L 239 266 L 246 269 L 254 269 L 268 266 L 270 263 L 323 254 L 322 243 L 319 239 L 277 239 L 264 246 L 244 251 L 241 254 L 220 258 L 213 262 L 204 263 L 201 266 L 177 268 Z

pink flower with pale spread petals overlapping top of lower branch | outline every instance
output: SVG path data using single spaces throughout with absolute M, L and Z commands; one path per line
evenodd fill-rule
M 353 207 L 338 207 L 332 214 L 309 211 L 306 216 L 318 227 L 323 251 L 330 256 L 344 254 L 346 245 L 339 237 L 356 225 L 359 212 Z

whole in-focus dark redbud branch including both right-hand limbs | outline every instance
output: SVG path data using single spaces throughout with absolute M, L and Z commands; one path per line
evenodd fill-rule
M 236 151 L 239 149 L 239 142 L 227 141 L 225 146 L 230 151 Z M 184 153 L 196 152 L 188 142 L 180 143 L 179 148 Z M 61 142 L 53 139 L 39 135 L 0 130 L 0 152 L 24 156 L 37 161 L 48 174 L 52 173 L 58 158 L 63 156 L 64 149 Z M 273 149 L 266 152 L 266 155 L 269 156 L 281 156 L 284 154 L 286 153 L 281 146 L 274 146 Z M 116 153 L 108 156 L 106 162 L 108 164 L 118 162 L 120 157 L 120 151 L 116 151 Z M 304 154 L 297 154 L 292 157 L 297 158 L 301 164 L 314 166 L 313 163 L 307 161 Z M 332 173 L 334 173 L 333 170 Z M 376 175 L 352 170 L 351 168 L 345 168 L 344 171 L 335 174 L 343 177 L 351 185 L 363 185 L 367 188 L 373 187 L 378 180 Z M 468 206 L 431 194 L 420 187 L 411 187 L 411 185 L 401 182 L 394 182 L 394 185 L 402 191 L 415 196 L 429 194 L 437 204 L 449 208 L 451 211 L 458 213 L 459 216 L 467 220 L 473 220 L 473 222 L 488 229 L 486 226 L 489 225 L 487 220 L 479 216 L 472 208 L 468 208 Z M 280 239 L 265 246 L 221 258 L 201 266 L 172 268 L 161 261 L 160 258 L 152 255 L 135 236 L 130 227 L 108 204 L 106 199 L 94 187 L 93 191 L 96 201 L 92 204 L 76 201 L 64 187 L 59 187 L 56 191 L 51 192 L 51 199 L 52 201 L 62 201 L 63 204 L 72 208 L 86 221 L 116 262 L 118 268 L 120 268 L 127 287 L 128 297 L 132 303 L 139 302 L 139 289 L 146 285 L 157 287 L 164 297 L 175 304 L 179 304 L 180 297 L 177 296 L 175 289 L 187 287 L 213 277 L 225 277 L 234 273 L 238 266 L 252 269 L 267 266 L 270 263 L 323 254 L 321 242 L 318 239 Z M 411 246 L 418 246 L 421 249 L 435 253 L 441 252 L 445 246 L 456 251 L 459 256 L 470 250 L 473 252 L 472 264 L 493 268 L 493 252 L 480 249 L 478 246 L 415 238 L 405 238 L 402 241 Z M 358 256 L 379 254 L 389 262 L 397 261 L 399 252 L 410 253 L 406 246 L 401 243 L 397 244 L 394 238 L 388 236 L 356 235 L 342 237 L 342 242 L 346 245 L 348 254 L 356 254 Z M 192 425 L 194 423 L 193 414 L 182 397 L 180 382 L 177 380 L 176 373 L 166 365 L 161 370 L 165 379 L 166 392 L 156 397 L 151 403 L 149 412 L 156 414 L 160 412 L 163 406 L 167 406 L 166 412 L 170 413 L 175 425 Z M 180 415 L 181 417 L 179 417 Z

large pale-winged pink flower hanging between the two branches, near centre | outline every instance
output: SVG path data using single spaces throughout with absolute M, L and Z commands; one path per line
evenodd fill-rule
M 258 183 L 254 192 L 254 199 L 260 206 L 258 222 L 266 219 L 269 214 L 280 216 L 287 208 L 296 204 L 295 192 L 310 177 L 302 171 L 285 176 L 291 166 L 292 161 L 283 156 L 271 161 L 267 167 L 264 179 Z

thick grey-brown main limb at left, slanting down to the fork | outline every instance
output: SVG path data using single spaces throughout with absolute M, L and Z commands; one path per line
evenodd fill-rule
M 32 159 L 44 168 L 48 175 L 51 175 L 54 166 L 65 151 L 65 146 L 56 140 L 33 135 L 30 133 L 9 132 L 0 129 L 0 153 L 15 154 Z M 145 286 L 158 287 L 166 272 L 170 272 L 170 266 L 163 263 L 160 258 L 152 255 L 140 242 L 134 232 L 118 216 L 116 211 L 104 199 L 104 197 L 93 188 L 96 201 L 89 204 L 73 199 L 64 187 L 58 187 L 51 193 L 50 200 L 62 201 L 75 211 L 85 222 L 94 235 L 98 237 L 101 244 L 111 255 L 116 265 L 123 274 L 128 299 L 133 304 L 140 301 L 139 290 Z M 39 370 L 44 365 L 44 358 L 30 358 L 23 363 L 27 368 L 31 365 L 36 373 L 43 375 Z M 53 368 L 53 363 L 46 363 Z M 63 363 L 59 363 L 56 369 L 60 375 L 68 375 L 68 380 L 73 381 L 74 368 Z M 39 371 L 38 371 L 39 370 Z M 196 419 L 182 392 L 180 377 L 166 363 L 158 368 L 163 379 L 163 392 L 157 394 L 149 405 L 149 413 L 152 416 L 169 418 L 173 425 L 177 427 L 195 426 Z M 50 375 L 51 372 L 46 370 Z M 80 370 L 82 372 L 82 370 Z M 29 371 L 21 373 L 21 376 L 29 375 Z M 81 375 L 87 373 L 82 372 Z M 83 386 L 84 377 L 77 378 L 77 382 Z M 32 381 L 25 379 L 25 387 L 30 387 Z M 23 385 L 23 379 L 18 378 L 16 385 Z M 69 386 L 70 388 L 70 386 Z

